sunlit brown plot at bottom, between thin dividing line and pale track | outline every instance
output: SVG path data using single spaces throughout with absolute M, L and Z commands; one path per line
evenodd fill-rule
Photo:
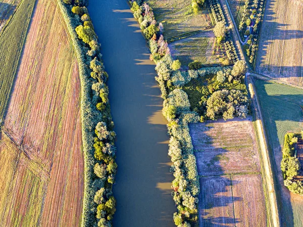
M 267 226 L 261 174 L 232 175 L 236 226 Z

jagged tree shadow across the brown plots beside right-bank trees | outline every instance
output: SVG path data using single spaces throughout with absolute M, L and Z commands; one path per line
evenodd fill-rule
M 240 219 L 235 217 L 234 202 L 243 199 L 233 196 L 232 185 L 239 182 L 232 180 L 229 174 L 225 175 L 220 162 L 228 151 L 214 146 L 216 139 L 206 133 L 212 128 L 214 127 L 207 126 L 206 123 L 189 124 L 197 170 L 201 176 L 198 195 L 199 226 L 235 226 L 240 223 Z M 214 154 L 205 157 L 205 153 Z

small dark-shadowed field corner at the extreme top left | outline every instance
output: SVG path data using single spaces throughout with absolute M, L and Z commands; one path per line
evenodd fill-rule
M 7 21 L 17 10 L 21 0 L 2 0 L 0 2 L 0 33 Z

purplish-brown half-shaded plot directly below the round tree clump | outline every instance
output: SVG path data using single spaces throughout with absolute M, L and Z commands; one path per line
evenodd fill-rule
M 189 124 L 199 175 L 260 172 L 251 118 Z

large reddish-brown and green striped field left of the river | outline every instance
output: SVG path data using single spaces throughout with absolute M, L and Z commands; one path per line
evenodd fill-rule
M 11 218 L 5 226 L 16 226 L 19 221 L 18 215 L 9 213 L 12 207 L 22 208 L 22 221 L 31 221 L 23 226 L 79 226 L 84 191 L 80 78 L 56 0 L 37 3 L 3 131 L 27 160 L 14 172 L 17 183 L 10 186 L 14 200 L 2 207 L 3 219 Z M 33 172 L 31 166 L 48 180 L 29 173 Z M 2 174 L 6 171 L 0 170 Z M 10 177 L 4 180 L 10 181 Z M 27 187 L 35 192 L 35 204 L 22 198 Z M 0 198 L 3 196 L 5 192 L 0 191 Z

